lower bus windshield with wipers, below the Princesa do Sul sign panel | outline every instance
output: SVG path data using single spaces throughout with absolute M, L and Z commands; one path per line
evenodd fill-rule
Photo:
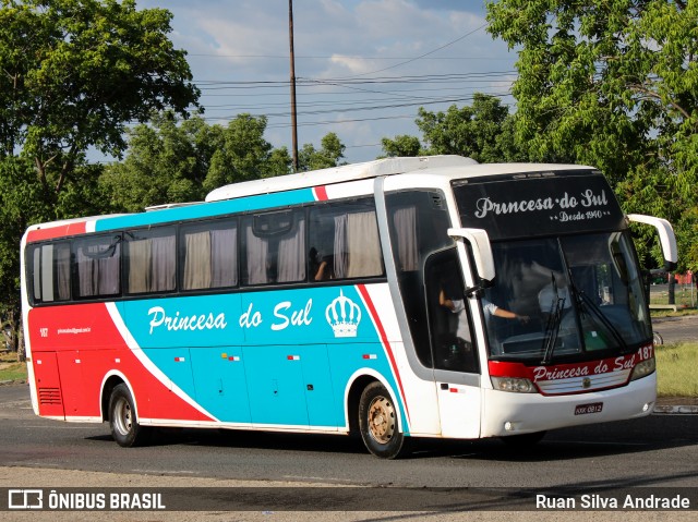
M 530 364 L 600 359 L 637 350 L 651 339 L 627 232 L 492 247 L 497 276 L 481 299 L 490 359 Z

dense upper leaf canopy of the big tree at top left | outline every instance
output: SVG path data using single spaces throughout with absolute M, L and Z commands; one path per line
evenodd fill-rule
M 171 14 L 133 1 L 2 0 L 0 143 L 59 193 L 89 147 L 118 156 L 124 125 L 196 102 Z

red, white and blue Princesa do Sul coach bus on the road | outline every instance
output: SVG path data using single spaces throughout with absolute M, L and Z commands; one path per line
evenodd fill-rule
M 574 165 L 386 158 L 205 202 L 31 227 L 37 415 L 158 427 L 537 442 L 649 415 L 652 325 L 631 221 Z

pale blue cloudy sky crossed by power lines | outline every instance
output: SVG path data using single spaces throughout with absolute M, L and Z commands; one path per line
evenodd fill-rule
M 266 116 L 265 138 L 291 150 L 289 4 L 286 0 L 139 0 L 172 15 L 204 118 L 227 124 Z M 483 0 L 293 0 L 298 143 L 329 132 L 345 160 L 382 155 L 381 138 L 421 138 L 419 107 L 471 105 L 508 95 L 516 54 L 485 31 Z

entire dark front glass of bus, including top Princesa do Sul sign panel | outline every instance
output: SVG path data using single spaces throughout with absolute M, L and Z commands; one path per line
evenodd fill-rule
M 489 356 L 549 364 L 651 342 L 635 250 L 606 180 L 593 170 L 454 182 L 464 227 L 492 242 L 481 295 Z

